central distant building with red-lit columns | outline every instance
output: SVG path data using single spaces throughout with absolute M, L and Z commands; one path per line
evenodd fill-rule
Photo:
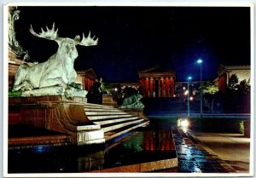
M 174 97 L 176 72 L 152 67 L 138 72 L 144 97 Z

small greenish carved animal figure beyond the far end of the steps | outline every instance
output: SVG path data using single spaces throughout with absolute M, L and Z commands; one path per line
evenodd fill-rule
M 134 94 L 134 95 L 131 95 L 129 97 L 126 97 L 123 100 L 122 105 L 119 106 L 119 108 L 122 108 L 122 109 L 131 109 L 131 108 L 143 109 L 144 105 L 140 101 L 142 98 L 143 98 L 143 95 L 140 95 L 140 94 Z

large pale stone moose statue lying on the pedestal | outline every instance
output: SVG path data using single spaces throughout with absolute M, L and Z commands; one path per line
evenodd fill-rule
M 43 37 L 54 40 L 59 47 L 55 55 L 49 57 L 45 62 L 29 66 L 22 64 L 18 68 L 15 75 L 15 83 L 12 91 L 21 91 L 22 96 L 38 96 L 38 95 L 65 95 L 67 99 L 73 96 L 84 97 L 87 91 L 82 89 L 81 84 L 74 83 L 77 78 L 73 65 L 74 60 L 79 56 L 76 45 L 92 46 L 97 45 L 98 38 L 80 36 L 71 39 L 69 37 L 59 37 L 55 30 L 55 23 L 52 29 L 46 26 L 45 32 L 39 34 L 34 32 L 32 26 L 30 32 L 36 37 Z

